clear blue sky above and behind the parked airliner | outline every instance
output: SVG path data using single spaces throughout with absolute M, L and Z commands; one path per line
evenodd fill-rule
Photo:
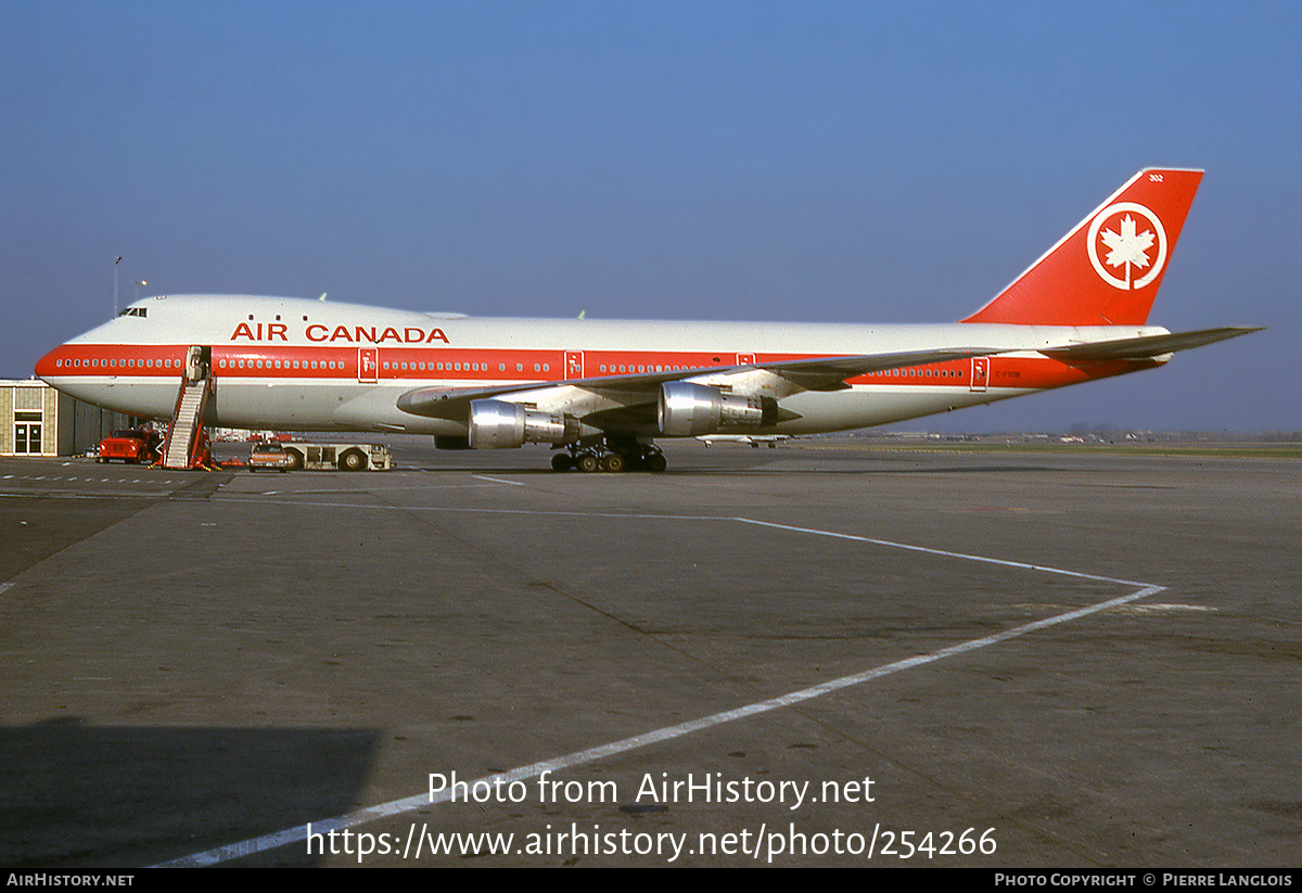
M 948 322 L 1206 168 L 1151 322 L 1271 331 L 904 427 L 1298 430 L 1302 7 L 60 3 L 0 29 L 0 375 L 152 293 Z

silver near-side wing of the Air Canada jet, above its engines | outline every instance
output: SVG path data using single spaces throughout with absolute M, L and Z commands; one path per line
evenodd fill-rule
M 969 357 L 1006 353 L 995 348 L 948 348 L 939 350 L 907 350 L 889 354 L 858 354 L 850 357 L 812 357 L 807 359 L 781 359 L 741 366 L 706 366 L 635 375 L 603 375 L 570 379 L 566 381 L 531 381 L 523 384 L 487 385 L 477 388 L 448 388 L 432 385 L 414 388 L 398 397 L 404 413 L 439 419 L 465 420 L 470 415 L 470 402 L 488 398 L 529 398 L 561 388 L 587 392 L 608 398 L 621 406 L 655 402 L 660 385 L 665 381 L 708 380 L 728 384 L 728 379 L 754 372 L 768 372 L 785 379 L 792 393 L 799 391 L 844 391 L 848 379 L 868 372 L 905 368 L 924 363 L 941 363 Z

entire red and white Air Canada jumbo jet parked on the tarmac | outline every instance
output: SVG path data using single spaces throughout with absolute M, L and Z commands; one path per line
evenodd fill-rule
M 1147 169 L 958 323 L 477 319 L 301 298 L 159 295 L 36 375 L 148 418 L 203 381 L 212 426 L 549 444 L 557 470 L 663 471 L 656 437 L 846 431 L 1161 366 L 1253 328 L 1147 324 L 1200 171 Z

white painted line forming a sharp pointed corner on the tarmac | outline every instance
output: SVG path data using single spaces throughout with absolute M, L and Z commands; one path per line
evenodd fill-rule
M 570 514 L 565 512 L 538 512 L 538 513 L 521 513 L 521 514 Z M 589 517 L 592 517 L 591 514 Z M 673 517 L 673 515 L 618 515 L 626 518 L 646 518 L 646 517 Z M 677 518 L 684 519 L 684 518 Z M 680 725 L 671 725 L 663 729 L 656 729 L 654 732 L 647 732 L 639 735 L 633 735 L 631 738 L 624 738 L 622 741 L 615 741 L 608 745 L 600 745 L 598 747 L 590 747 L 587 750 L 574 751 L 564 756 L 557 756 L 549 760 L 543 760 L 540 763 L 530 763 L 529 765 L 522 765 L 508 772 L 499 772 L 491 776 L 484 776 L 475 781 L 469 782 L 471 790 L 477 785 L 486 784 L 490 789 L 493 789 L 499 784 L 509 784 L 512 781 L 522 781 L 525 778 L 534 778 L 540 776 L 543 772 L 560 772 L 561 769 L 573 768 L 575 765 L 583 765 L 587 763 L 595 763 L 596 760 L 605 759 L 608 756 L 616 756 L 618 754 L 626 754 L 633 750 L 639 750 L 642 747 L 648 747 L 651 745 L 663 743 L 665 741 L 672 741 L 674 738 L 681 738 L 684 735 L 693 734 L 695 732 L 702 732 L 704 729 L 712 729 L 715 726 L 724 725 L 727 722 L 733 722 L 736 720 L 749 719 L 751 716 L 759 716 L 760 713 L 767 713 L 775 709 L 781 709 L 785 707 L 792 707 L 793 704 L 799 704 L 806 700 L 812 700 L 815 698 L 822 698 L 823 695 L 832 694 L 835 691 L 841 691 L 842 689 L 849 689 L 855 685 L 862 685 L 865 682 L 871 682 L 879 680 L 884 676 L 891 676 L 893 673 L 900 673 L 907 669 L 915 669 L 918 666 L 926 666 L 927 664 L 934 664 L 948 657 L 954 657 L 957 655 L 969 653 L 979 648 L 988 648 L 990 646 L 999 644 L 1001 642 L 1008 642 L 1009 639 L 1016 639 L 1030 633 L 1036 633 L 1051 626 L 1057 626 L 1060 624 L 1068 624 L 1073 620 L 1081 620 L 1082 617 L 1088 617 L 1111 608 L 1117 608 L 1120 605 L 1130 604 L 1131 601 L 1138 601 L 1150 595 L 1155 595 L 1165 590 L 1164 586 L 1156 586 L 1151 583 L 1139 583 L 1135 581 L 1121 581 L 1112 577 L 1100 577 L 1098 574 L 1085 574 L 1073 570 L 1062 570 L 1059 568 L 1047 568 L 1043 565 L 1032 565 L 1021 561 L 1006 561 L 1003 558 L 987 558 L 979 555 L 963 555 L 961 552 L 947 552 L 943 549 L 931 549 L 919 545 L 909 545 L 906 543 L 892 543 L 889 540 L 878 540 L 867 536 L 855 536 L 850 534 L 837 534 L 835 531 L 815 530 L 810 527 L 793 527 L 789 525 L 777 525 L 767 521 L 755 521 L 753 518 L 702 518 L 710 521 L 736 521 L 741 523 L 759 525 L 762 527 L 773 527 L 779 530 L 788 530 L 802 534 L 811 534 L 818 536 L 832 536 L 836 539 L 846 539 L 859 543 L 871 543 L 875 545 L 884 545 L 891 548 L 906 549 L 910 552 L 923 552 L 927 555 L 947 556 L 954 558 L 962 558 L 967 561 L 979 561 L 984 564 L 1001 565 L 1006 568 L 1018 568 L 1025 570 L 1036 570 L 1048 574 L 1064 574 L 1069 577 L 1077 577 L 1081 579 L 1092 579 L 1108 583 L 1121 583 L 1125 586 L 1138 586 L 1141 588 L 1130 592 L 1129 595 L 1122 595 L 1116 599 L 1108 599 L 1098 604 L 1086 605 L 1083 608 L 1077 608 L 1074 611 L 1068 611 L 1061 614 L 1055 614 L 1053 617 L 1046 617 L 1043 620 L 1036 620 L 1030 624 L 1022 624 L 1012 629 L 1004 630 L 1003 633 L 995 633 L 992 635 L 986 635 L 979 639 L 970 639 L 967 642 L 961 642 L 945 648 L 939 648 L 924 655 L 917 655 L 914 657 L 906 657 L 904 660 L 897 660 L 891 664 L 884 664 L 862 673 L 854 673 L 852 676 L 842 676 L 837 680 L 831 680 L 828 682 L 822 682 L 819 685 L 811 686 L 809 689 L 801 689 L 798 691 L 792 691 L 777 698 L 769 698 L 768 700 L 760 700 L 743 707 L 737 707 L 734 709 L 723 711 L 720 713 L 712 713 L 710 716 L 703 716 L 697 720 L 690 720 Z M 388 803 L 380 803 L 378 806 L 370 806 L 362 810 L 355 810 L 344 815 L 339 815 L 331 819 L 323 819 L 320 821 L 312 821 L 314 834 L 328 834 L 329 832 L 346 831 L 349 828 L 355 828 L 358 825 L 368 824 L 379 819 L 387 819 L 396 815 L 402 815 L 404 812 L 414 812 L 426 806 L 432 806 L 435 803 L 444 803 L 452 797 L 452 790 L 436 791 L 436 793 L 422 793 L 414 797 L 406 797 L 397 801 L 389 801 Z M 228 844 L 227 846 L 219 846 L 211 850 L 204 850 L 203 853 L 195 853 L 193 855 L 181 857 L 178 859 L 172 859 L 169 862 L 159 863 L 158 868 L 186 868 L 186 867 L 203 867 L 214 866 L 223 862 L 229 862 L 230 859 L 240 859 L 242 857 L 254 855 L 258 853 L 266 853 L 267 850 L 273 850 L 280 846 L 286 846 L 290 844 L 298 844 L 307 840 L 307 827 L 296 825 L 293 828 L 285 828 L 271 834 L 263 834 L 262 837 L 254 837 L 250 840 L 240 841 L 236 844 Z

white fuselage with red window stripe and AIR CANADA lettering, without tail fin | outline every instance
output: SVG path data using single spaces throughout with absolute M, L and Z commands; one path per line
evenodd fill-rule
M 768 428 L 812 433 L 862 428 L 992 402 L 1152 362 L 1066 363 L 1036 350 L 1163 333 L 1154 327 L 953 323 L 803 323 L 490 319 L 268 297 L 159 297 L 51 351 L 38 375 L 76 397 L 133 415 L 167 418 L 186 351 L 211 354 L 210 423 L 301 431 L 355 430 L 464 435 L 464 423 L 409 414 L 397 398 L 417 388 L 536 383 L 513 397 L 564 411 L 592 394 L 575 379 L 712 370 L 773 359 L 936 350 L 980 344 L 997 355 L 889 370 L 840 391 L 783 394 L 798 418 Z M 599 402 L 599 401 L 598 401 Z M 655 432 L 642 432 L 655 433 Z

